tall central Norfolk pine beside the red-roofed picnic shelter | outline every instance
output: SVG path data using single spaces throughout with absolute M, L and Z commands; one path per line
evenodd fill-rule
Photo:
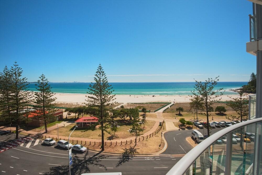
M 101 129 L 101 151 L 104 151 L 104 130 L 107 129 L 107 126 L 104 124 L 108 122 L 108 116 L 106 115 L 106 106 L 109 105 L 109 102 L 115 100 L 114 96 L 111 95 L 111 93 L 114 91 L 112 90 L 111 85 L 108 84 L 106 74 L 101 66 L 99 64 L 95 77 L 94 77 L 95 83 L 91 83 L 89 85 L 89 92 L 88 94 L 92 96 L 86 96 L 88 99 L 86 100 L 88 104 L 86 105 L 94 105 L 98 107 L 98 117 L 99 117 L 99 123 Z

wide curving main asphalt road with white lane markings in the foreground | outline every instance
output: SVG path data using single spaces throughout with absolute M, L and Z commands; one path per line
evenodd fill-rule
M 24 136 L 20 136 L 24 137 Z M 68 174 L 68 155 L 64 149 L 46 146 L 24 137 L 22 146 L 14 135 L 0 136 L 0 174 Z M 22 140 L 22 139 L 20 139 Z M 18 141 L 16 141 L 18 143 Z M 32 143 L 31 143 L 32 142 Z M 87 151 L 72 152 L 71 174 L 122 172 L 122 174 L 166 174 L 181 157 L 111 155 Z

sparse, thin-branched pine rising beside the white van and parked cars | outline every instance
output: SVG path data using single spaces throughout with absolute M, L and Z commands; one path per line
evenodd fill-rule
M 219 76 L 218 76 L 219 77 Z M 208 119 L 208 112 L 210 110 L 211 105 L 215 102 L 218 101 L 215 98 L 220 97 L 223 95 L 223 93 L 225 92 L 220 92 L 223 88 L 217 89 L 217 90 L 213 90 L 214 87 L 217 85 L 217 81 L 219 81 L 219 79 L 217 79 L 218 77 L 216 77 L 215 79 L 212 78 L 208 78 L 208 80 L 206 80 L 205 82 L 198 82 L 195 80 L 196 84 L 194 86 L 194 90 L 192 92 L 192 94 L 197 97 L 200 97 L 200 101 L 204 103 L 203 105 L 203 109 L 206 111 L 206 121 L 207 121 L 207 130 L 208 130 L 208 137 L 210 136 L 209 134 L 209 119 Z M 219 93 L 220 94 L 217 94 Z

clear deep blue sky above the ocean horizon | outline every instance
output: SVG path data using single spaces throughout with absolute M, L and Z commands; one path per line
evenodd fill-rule
M 234 1 L 0 1 L 0 68 L 28 81 L 248 81 L 252 3 Z

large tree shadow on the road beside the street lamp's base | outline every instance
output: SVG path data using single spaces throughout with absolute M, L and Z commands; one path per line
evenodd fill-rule
M 101 152 L 96 153 L 95 155 L 88 156 L 89 152 L 86 151 L 85 155 L 82 156 L 73 156 L 73 164 L 71 165 L 71 174 L 82 174 L 82 173 L 90 173 L 90 166 L 102 167 L 106 168 L 105 165 L 102 165 L 101 159 L 107 159 L 111 156 L 100 155 Z M 68 159 L 67 159 L 68 161 Z M 45 173 L 47 175 L 61 175 L 61 174 L 69 174 L 69 167 L 67 165 L 51 167 L 50 171 Z

